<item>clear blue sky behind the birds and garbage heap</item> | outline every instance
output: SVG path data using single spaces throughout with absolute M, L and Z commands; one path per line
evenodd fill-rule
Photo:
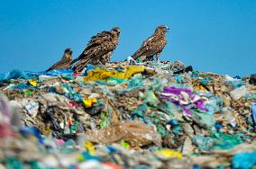
M 112 60 L 132 55 L 160 24 L 160 60 L 219 74 L 256 73 L 254 0 L 2 0 L 0 72 L 45 70 L 67 47 L 77 58 L 98 31 L 122 29 Z

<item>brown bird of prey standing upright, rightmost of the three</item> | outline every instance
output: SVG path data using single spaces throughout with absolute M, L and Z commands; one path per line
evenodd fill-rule
M 132 58 L 137 59 L 141 57 L 141 60 L 144 61 L 156 55 L 158 60 L 162 49 L 167 43 L 166 31 L 168 30 L 169 28 L 167 26 L 160 25 L 154 34 L 142 43 L 141 48 L 133 54 Z

